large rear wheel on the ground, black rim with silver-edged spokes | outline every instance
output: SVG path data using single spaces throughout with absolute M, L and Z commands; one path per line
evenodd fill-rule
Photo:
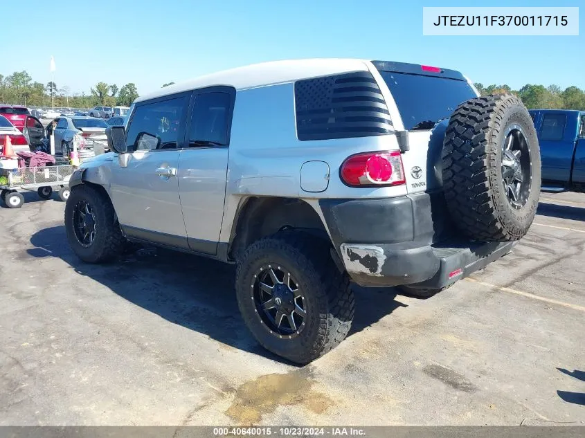
M 350 330 L 354 298 L 325 242 L 304 232 L 256 241 L 236 273 L 237 302 L 253 336 L 269 351 L 306 364 Z

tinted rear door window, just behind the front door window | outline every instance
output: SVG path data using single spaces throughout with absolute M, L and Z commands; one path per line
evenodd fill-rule
M 189 147 L 217 143 L 228 145 L 231 96 L 228 93 L 201 93 L 191 113 Z

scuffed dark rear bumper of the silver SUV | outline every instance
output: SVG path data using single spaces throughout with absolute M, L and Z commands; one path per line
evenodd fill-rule
M 442 193 L 319 204 L 346 271 L 361 286 L 441 288 L 484 268 L 516 243 L 461 239 Z

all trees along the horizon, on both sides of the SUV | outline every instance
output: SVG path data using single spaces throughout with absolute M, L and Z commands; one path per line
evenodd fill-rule
M 163 86 L 169 86 L 168 82 Z M 529 109 L 580 109 L 585 111 L 585 91 L 577 86 L 562 90 L 557 85 L 526 84 L 519 90 L 510 86 L 474 84 L 481 94 L 512 93 L 518 95 Z M 16 71 L 12 75 L 0 75 L 0 103 L 21 104 L 29 107 L 50 107 L 55 100 L 56 107 L 91 108 L 98 105 L 113 107 L 129 106 L 138 98 L 136 84 L 130 82 L 118 88 L 116 84 L 98 82 L 89 90 L 89 94 L 71 94 L 69 86 L 58 87 L 55 82 L 42 84 L 34 81 L 26 71 Z

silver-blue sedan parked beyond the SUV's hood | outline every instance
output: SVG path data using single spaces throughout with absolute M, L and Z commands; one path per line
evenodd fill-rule
M 59 117 L 53 131 L 55 135 L 55 152 L 69 156 L 73 150 L 73 138 L 82 136 L 88 149 L 95 145 L 107 149 L 105 130 L 108 127 L 104 120 L 93 117 Z

